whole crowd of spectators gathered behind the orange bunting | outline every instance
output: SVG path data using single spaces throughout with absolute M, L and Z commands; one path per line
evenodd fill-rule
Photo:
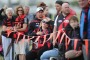
M 90 1 L 77 2 L 82 8 L 80 24 L 68 2 L 55 2 L 54 20 L 44 2 L 37 5 L 35 14 L 29 13 L 29 6 L 19 5 L 16 10 L 4 6 L 0 10 L 4 60 L 89 60 Z

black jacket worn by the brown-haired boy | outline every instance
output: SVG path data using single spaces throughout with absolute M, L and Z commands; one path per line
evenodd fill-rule
M 65 28 L 66 34 L 71 39 L 80 39 L 80 28 L 76 27 L 73 29 L 70 24 L 68 24 Z

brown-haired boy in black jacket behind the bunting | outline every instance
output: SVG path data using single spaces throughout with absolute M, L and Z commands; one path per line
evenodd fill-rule
M 71 39 L 80 39 L 79 30 L 80 30 L 80 28 L 79 28 L 79 24 L 78 24 L 78 18 L 76 16 L 72 16 L 69 20 L 69 24 L 65 28 L 65 32 L 66 32 L 67 36 Z M 73 50 L 74 49 L 73 47 L 74 47 L 74 40 L 71 40 L 68 50 Z M 78 54 L 78 57 L 74 57 L 73 59 L 70 59 L 70 60 L 77 60 L 77 59 L 83 60 L 80 40 L 77 43 L 76 53 Z M 69 53 L 69 55 L 70 55 L 70 53 Z

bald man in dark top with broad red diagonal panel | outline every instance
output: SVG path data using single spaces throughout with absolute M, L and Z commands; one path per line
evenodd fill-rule
M 56 37 L 56 31 L 59 31 L 59 30 L 65 28 L 66 25 L 69 23 L 69 18 L 73 15 L 76 15 L 75 13 L 73 14 L 72 11 L 70 9 L 69 3 L 65 2 L 65 3 L 62 4 L 62 12 L 59 15 L 60 19 L 59 20 L 56 19 L 55 22 L 54 22 L 54 30 L 53 30 L 54 40 L 55 40 L 55 37 Z

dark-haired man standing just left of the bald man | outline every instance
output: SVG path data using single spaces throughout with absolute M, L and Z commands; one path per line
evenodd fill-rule
M 56 31 L 58 30 L 58 27 L 59 27 L 59 25 L 61 23 L 61 22 L 57 22 L 57 21 L 63 19 L 63 17 L 60 17 L 62 4 L 63 4 L 62 1 L 56 1 L 55 2 L 55 7 L 56 7 L 56 10 L 57 10 L 57 14 L 56 14 L 55 20 L 54 20 L 54 29 L 53 29 L 55 37 L 56 37 Z M 53 39 L 55 39 L 55 37 L 53 37 Z

